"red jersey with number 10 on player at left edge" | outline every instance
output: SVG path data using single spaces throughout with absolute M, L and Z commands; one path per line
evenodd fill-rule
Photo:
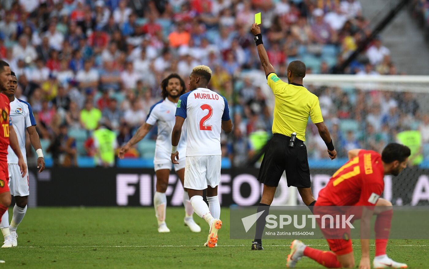
M 9 146 L 9 126 L 12 121 L 9 117 L 10 105 L 9 98 L 3 93 L 0 93 L 0 161 L 7 162 L 7 146 Z

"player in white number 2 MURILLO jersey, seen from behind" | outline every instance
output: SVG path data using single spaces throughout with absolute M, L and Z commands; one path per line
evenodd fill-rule
M 176 123 L 172 131 L 171 162 L 178 165 L 179 139 L 186 119 L 187 147 L 184 187 L 187 188 L 195 213 L 210 226 L 205 246 L 214 248 L 222 221 L 218 199 L 221 181 L 221 128 L 233 129 L 227 99 L 207 89 L 211 69 L 205 65 L 193 68 L 189 77 L 190 92 L 181 95 L 177 103 Z M 181 151 L 184 154 L 184 151 Z M 184 163 L 184 160 L 180 161 Z M 206 190 L 207 204 L 202 199 Z

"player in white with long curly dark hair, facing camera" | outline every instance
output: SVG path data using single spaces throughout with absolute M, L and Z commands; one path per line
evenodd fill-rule
M 173 73 L 162 81 L 161 89 L 163 100 L 151 107 L 146 119 L 146 123 L 140 126 L 130 141 L 128 141 L 127 144 L 125 144 L 124 147 L 119 150 L 118 156 L 119 158 L 123 159 L 124 154 L 130 149 L 130 147 L 142 140 L 155 125 L 155 123 L 158 124 L 158 136 L 155 146 L 154 158 L 155 173 L 157 175 L 154 207 L 155 216 L 157 217 L 158 221 L 158 232 L 170 232 L 165 223 L 167 205 L 165 192 L 167 190 L 168 178 L 172 168 L 170 161 L 171 131 L 173 129 L 175 120 L 174 114 L 176 111 L 176 104 L 179 97 L 186 91 L 186 86 L 183 79 L 181 79 L 178 74 Z M 186 125 L 184 126 L 184 132 L 186 132 Z M 181 139 L 179 147 L 183 150 L 186 149 L 186 136 L 184 139 Z M 181 165 L 174 165 L 174 169 L 182 185 L 185 174 L 184 168 L 184 163 Z M 190 204 L 186 189 L 184 189 L 183 192 L 183 205 L 185 207 L 185 225 L 187 225 L 192 232 L 200 232 L 201 228 L 198 226 L 198 224 L 195 223 L 192 217 L 193 209 L 192 205 Z

